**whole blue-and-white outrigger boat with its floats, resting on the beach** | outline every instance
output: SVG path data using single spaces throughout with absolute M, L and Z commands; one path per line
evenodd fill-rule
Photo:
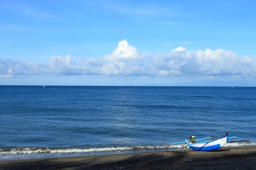
M 239 139 L 239 141 L 229 141 L 229 139 L 232 138 L 236 138 Z M 212 139 L 211 141 L 201 141 L 204 139 Z M 182 142 L 174 142 L 174 143 L 170 143 L 167 148 L 166 151 L 168 152 L 172 152 L 168 150 L 168 147 L 173 145 L 173 144 L 183 144 L 182 146 L 183 148 L 183 152 L 185 150 L 186 147 L 190 147 L 193 150 L 198 150 L 198 151 L 211 151 L 211 150 L 217 150 L 220 147 L 222 147 L 224 144 L 226 144 L 227 142 L 246 142 L 246 141 L 250 141 L 250 140 L 242 140 L 240 137 L 229 137 L 228 134 L 226 134 L 224 137 L 220 138 L 220 139 L 216 139 L 214 140 L 212 137 L 204 137 L 201 139 L 197 139 L 195 140 L 194 136 L 189 137 L 189 139 L 185 139 L 185 141 Z

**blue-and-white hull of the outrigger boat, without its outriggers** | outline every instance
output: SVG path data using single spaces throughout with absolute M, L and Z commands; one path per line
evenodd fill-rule
M 227 141 L 229 141 L 229 137 L 226 135 L 225 137 L 222 137 L 222 138 L 214 140 L 214 141 L 206 141 L 206 142 L 199 142 L 199 143 L 195 143 L 195 144 L 188 144 L 188 146 L 193 150 L 211 151 L 211 150 L 219 149 L 224 144 L 226 144 Z

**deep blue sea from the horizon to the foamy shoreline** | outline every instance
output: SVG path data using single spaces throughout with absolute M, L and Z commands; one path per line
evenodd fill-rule
M 256 87 L 0 86 L 0 160 L 256 145 Z M 180 145 L 170 147 L 180 150 Z

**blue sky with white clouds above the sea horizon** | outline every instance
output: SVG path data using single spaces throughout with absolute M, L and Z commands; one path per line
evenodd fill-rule
M 254 0 L 0 0 L 0 85 L 256 86 Z

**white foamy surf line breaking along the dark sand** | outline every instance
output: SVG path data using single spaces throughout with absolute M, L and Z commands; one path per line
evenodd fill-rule
M 256 142 L 226 143 L 222 147 L 256 146 Z M 6 159 L 34 159 L 47 157 L 70 157 L 85 155 L 108 155 L 131 152 L 165 151 L 165 146 L 133 146 L 133 147 L 103 147 L 103 148 L 50 148 L 50 147 L 25 147 L 25 148 L 0 148 L 0 160 Z M 179 145 L 169 146 L 169 150 L 181 150 Z M 189 149 L 189 148 L 187 148 Z

